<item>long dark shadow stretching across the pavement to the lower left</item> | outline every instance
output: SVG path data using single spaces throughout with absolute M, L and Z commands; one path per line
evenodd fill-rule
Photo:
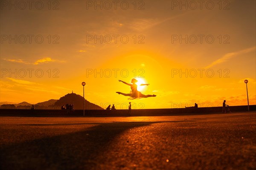
M 112 144 L 116 137 L 121 135 L 125 130 L 148 126 L 154 123 L 162 122 L 100 123 L 99 125 L 75 133 L 34 139 L 19 144 L 2 145 L 0 146 L 0 169 L 99 169 L 97 166 L 99 161 L 102 161 L 98 159 L 99 155 L 105 154 L 106 148 Z M 52 126 L 52 124 L 48 125 Z

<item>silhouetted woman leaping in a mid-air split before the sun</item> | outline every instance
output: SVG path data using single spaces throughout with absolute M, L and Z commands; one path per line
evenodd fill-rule
M 122 80 L 118 80 L 118 81 L 119 81 L 119 82 L 123 82 L 124 84 L 131 86 L 131 93 L 125 94 L 125 93 L 121 93 L 121 92 L 116 92 L 117 94 L 122 94 L 122 95 L 124 95 L 124 96 L 130 96 L 130 97 L 132 97 L 133 99 L 136 99 L 136 98 L 155 97 L 155 96 L 156 96 L 156 95 L 154 95 L 154 94 L 153 94 L 153 95 L 150 95 L 150 94 L 145 95 L 145 94 L 142 94 L 140 91 L 137 91 L 137 84 L 135 84 L 136 82 L 138 82 L 137 79 L 132 79 L 132 80 L 131 80 L 131 83 L 132 83 L 132 84 L 129 84 L 129 83 L 124 82 L 124 81 L 122 81 Z M 149 84 L 141 84 L 141 85 L 149 85 Z

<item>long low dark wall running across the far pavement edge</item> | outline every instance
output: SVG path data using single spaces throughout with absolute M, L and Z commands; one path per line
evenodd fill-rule
M 232 112 L 247 111 L 247 106 L 230 106 Z M 250 105 L 250 111 L 256 111 L 256 105 Z M 137 109 L 132 110 L 132 116 L 165 116 L 221 113 L 222 107 L 209 108 L 172 108 L 172 109 Z M 83 110 L 75 110 L 67 114 L 66 110 L 46 109 L 0 109 L 0 116 L 83 116 Z M 128 116 L 128 110 L 85 110 L 85 116 Z

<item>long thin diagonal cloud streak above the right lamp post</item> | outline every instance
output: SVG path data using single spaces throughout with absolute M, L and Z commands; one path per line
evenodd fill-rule
M 214 62 L 212 62 L 210 65 L 207 65 L 205 68 L 210 68 L 214 65 L 217 65 L 217 64 L 220 64 L 222 62 L 226 62 L 227 60 L 231 59 L 232 57 L 236 56 L 236 55 L 239 55 L 239 54 L 245 54 L 245 53 L 248 53 L 250 51 L 254 51 L 256 49 L 256 47 L 252 47 L 252 48 L 246 48 L 244 50 L 241 50 L 241 51 L 236 51 L 236 52 L 232 52 L 232 53 L 227 53 L 225 54 L 223 57 L 215 60 Z

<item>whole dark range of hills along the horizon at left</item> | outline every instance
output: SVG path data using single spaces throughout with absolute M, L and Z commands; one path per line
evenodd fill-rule
M 66 104 L 73 104 L 74 109 L 86 109 L 86 110 L 102 110 L 103 108 L 99 107 L 98 105 L 95 105 L 86 99 L 84 99 L 83 102 L 83 97 L 80 96 L 79 94 L 71 93 L 71 94 L 66 94 L 65 96 L 62 96 L 60 99 L 50 99 L 45 102 L 39 102 L 35 105 L 35 109 L 61 109 L 61 106 Z M 21 103 L 15 103 L 15 102 L 1 102 L 0 103 L 1 108 L 18 108 L 18 109 L 30 109 L 32 104 L 28 102 L 21 102 Z

